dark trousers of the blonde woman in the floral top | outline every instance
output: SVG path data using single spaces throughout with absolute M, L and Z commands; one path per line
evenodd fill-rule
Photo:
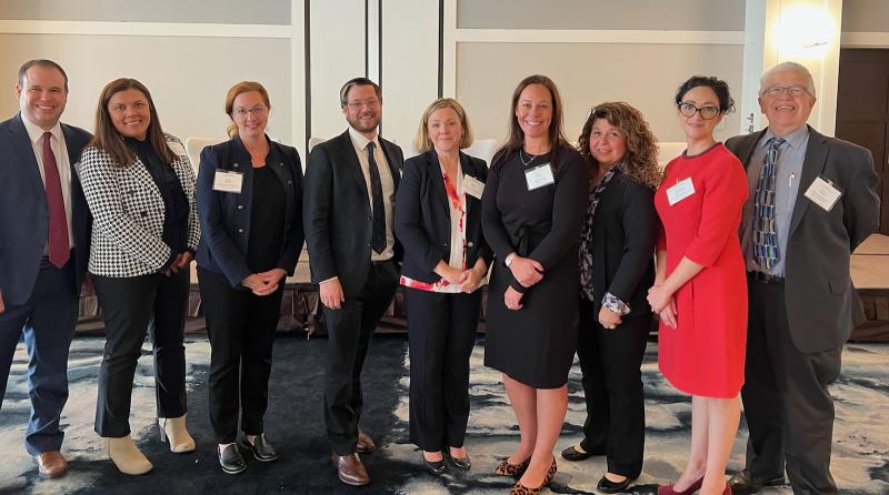
M 469 422 L 469 356 L 481 291 L 404 289 L 410 339 L 410 441 L 427 452 L 462 447 Z

